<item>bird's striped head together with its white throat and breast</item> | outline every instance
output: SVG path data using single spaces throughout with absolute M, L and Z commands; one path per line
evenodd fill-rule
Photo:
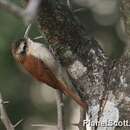
M 49 50 L 43 44 L 35 42 L 30 38 L 23 38 L 14 42 L 12 44 L 12 54 L 19 63 L 24 63 L 28 56 L 41 60 L 52 57 Z

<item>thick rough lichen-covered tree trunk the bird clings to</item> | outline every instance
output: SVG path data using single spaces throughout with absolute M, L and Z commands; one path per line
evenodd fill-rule
M 86 31 L 77 17 L 59 0 L 43 0 L 38 22 L 50 50 L 66 68 L 82 100 L 88 101 L 90 120 L 118 121 L 120 108 L 127 109 L 125 104 L 130 106 L 127 56 L 117 60 L 105 56 L 93 37 L 89 34 L 85 37 Z M 93 129 L 107 128 L 95 126 Z

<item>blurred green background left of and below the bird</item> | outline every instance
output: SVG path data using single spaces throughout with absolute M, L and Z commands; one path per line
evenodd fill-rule
M 12 2 L 21 4 L 17 0 Z M 56 124 L 55 90 L 48 87 L 41 90 L 41 84 L 23 73 L 11 55 L 12 42 L 23 37 L 25 29 L 22 19 L 0 10 L 0 92 L 4 100 L 9 101 L 5 107 L 12 123 L 24 120 L 17 130 L 43 130 L 31 124 Z M 37 27 L 31 30 L 30 37 L 40 35 Z M 0 130 L 5 130 L 1 121 Z

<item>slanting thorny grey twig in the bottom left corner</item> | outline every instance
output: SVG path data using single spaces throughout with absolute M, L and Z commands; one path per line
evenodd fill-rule
M 6 110 L 3 105 L 3 99 L 2 95 L 0 94 L 0 118 L 1 121 L 3 122 L 4 126 L 6 127 L 6 130 L 15 130 L 15 127 L 12 125 Z

